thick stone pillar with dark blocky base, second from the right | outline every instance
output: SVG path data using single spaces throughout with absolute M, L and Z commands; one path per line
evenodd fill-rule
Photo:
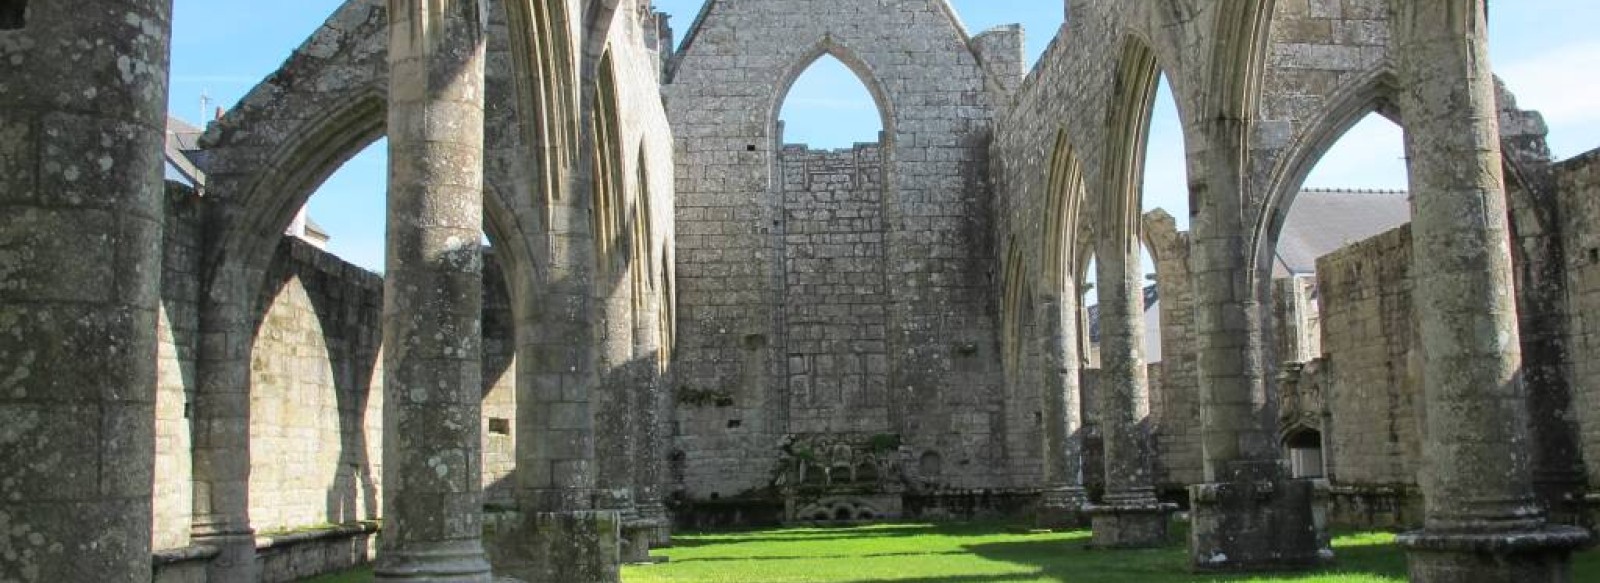
M 1205 484 L 1189 487 L 1189 557 L 1197 570 L 1278 570 L 1333 559 L 1318 482 L 1288 477 L 1277 396 L 1266 378 L 1270 274 L 1246 259 L 1242 160 L 1250 125 L 1210 115 L 1189 162 L 1195 328 Z M 1254 277 L 1253 277 L 1254 274 Z

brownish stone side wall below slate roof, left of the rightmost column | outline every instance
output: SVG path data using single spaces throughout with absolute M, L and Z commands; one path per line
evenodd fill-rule
M 1410 227 L 1317 261 L 1333 416 L 1323 442 L 1338 485 L 1416 484 L 1422 388 L 1410 267 Z

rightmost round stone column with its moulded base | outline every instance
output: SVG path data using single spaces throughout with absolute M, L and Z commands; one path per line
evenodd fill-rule
M 1485 3 L 1394 3 L 1424 359 L 1413 581 L 1566 581 L 1587 532 L 1533 490 Z

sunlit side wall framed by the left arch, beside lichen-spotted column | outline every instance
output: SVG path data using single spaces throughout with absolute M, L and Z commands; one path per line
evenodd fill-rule
M 258 306 L 253 525 L 282 532 L 378 517 L 382 279 L 285 237 Z

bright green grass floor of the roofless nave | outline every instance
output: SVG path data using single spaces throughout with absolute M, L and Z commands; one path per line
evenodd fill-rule
M 885 524 L 682 533 L 666 564 L 624 567 L 626 583 L 1166 583 L 1405 581 L 1405 554 L 1389 533 L 1346 533 L 1338 562 L 1283 575 L 1192 575 L 1182 538 L 1152 551 L 1090 551 L 1088 532 L 1027 533 L 997 524 Z M 370 581 L 350 572 L 315 583 Z M 1574 581 L 1600 581 L 1600 553 L 1574 561 Z

